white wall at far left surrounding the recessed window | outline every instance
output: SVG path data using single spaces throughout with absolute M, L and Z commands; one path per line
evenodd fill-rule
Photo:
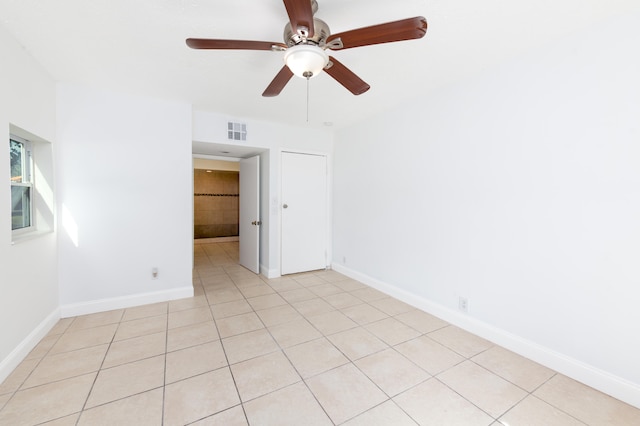
M 55 84 L 0 27 L 0 135 L 10 125 L 55 139 Z M 55 144 L 54 144 L 55 145 Z M 58 319 L 56 235 L 11 244 L 9 150 L 0 149 L 0 382 Z M 49 182 L 52 188 L 53 182 Z

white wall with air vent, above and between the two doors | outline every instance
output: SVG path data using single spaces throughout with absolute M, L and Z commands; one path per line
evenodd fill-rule
M 268 277 L 280 275 L 280 153 L 283 150 L 322 153 L 331 156 L 333 134 L 328 129 L 284 126 L 242 119 L 247 141 L 227 140 L 227 122 L 238 119 L 194 111 L 193 140 L 198 142 L 263 148 L 260 154 L 261 210 L 260 268 Z

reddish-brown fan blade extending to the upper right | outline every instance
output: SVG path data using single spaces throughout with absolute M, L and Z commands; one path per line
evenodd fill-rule
M 332 47 L 332 50 L 351 49 L 352 47 L 369 46 L 372 44 L 391 43 L 394 41 L 414 40 L 422 38 L 427 32 L 427 20 L 422 16 L 373 25 L 357 30 L 333 34 L 327 38 L 327 44 L 340 39 L 342 47 Z

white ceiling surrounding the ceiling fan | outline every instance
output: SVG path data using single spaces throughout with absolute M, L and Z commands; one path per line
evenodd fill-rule
M 262 92 L 282 53 L 192 50 L 188 37 L 281 42 L 280 0 L 0 0 L 0 25 L 57 80 L 186 101 L 232 117 L 340 127 L 637 9 L 638 0 L 318 0 L 332 33 L 422 15 L 423 39 L 334 52 L 371 85 L 322 74 Z M 6 64 L 3 64 L 5 66 Z

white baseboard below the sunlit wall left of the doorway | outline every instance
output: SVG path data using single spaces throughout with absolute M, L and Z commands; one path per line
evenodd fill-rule
M 95 314 L 113 309 L 131 308 L 133 306 L 166 302 L 187 297 L 193 297 L 193 286 L 62 305 L 60 306 L 60 316 L 62 318 L 68 318 L 77 315 Z

